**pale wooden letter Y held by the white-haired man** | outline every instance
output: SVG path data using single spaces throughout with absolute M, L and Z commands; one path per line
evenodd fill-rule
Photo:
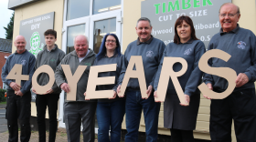
M 75 101 L 77 96 L 77 84 L 80 80 L 80 76 L 82 76 L 84 70 L 87 66 L 78 66 L 74 76 L 72 76 L 69 65 L 61 65 L 64 71 L 64 74 L 67 78 L 68 85 L 70 88 L 70 92 L 67 93 L 67 100 Z

